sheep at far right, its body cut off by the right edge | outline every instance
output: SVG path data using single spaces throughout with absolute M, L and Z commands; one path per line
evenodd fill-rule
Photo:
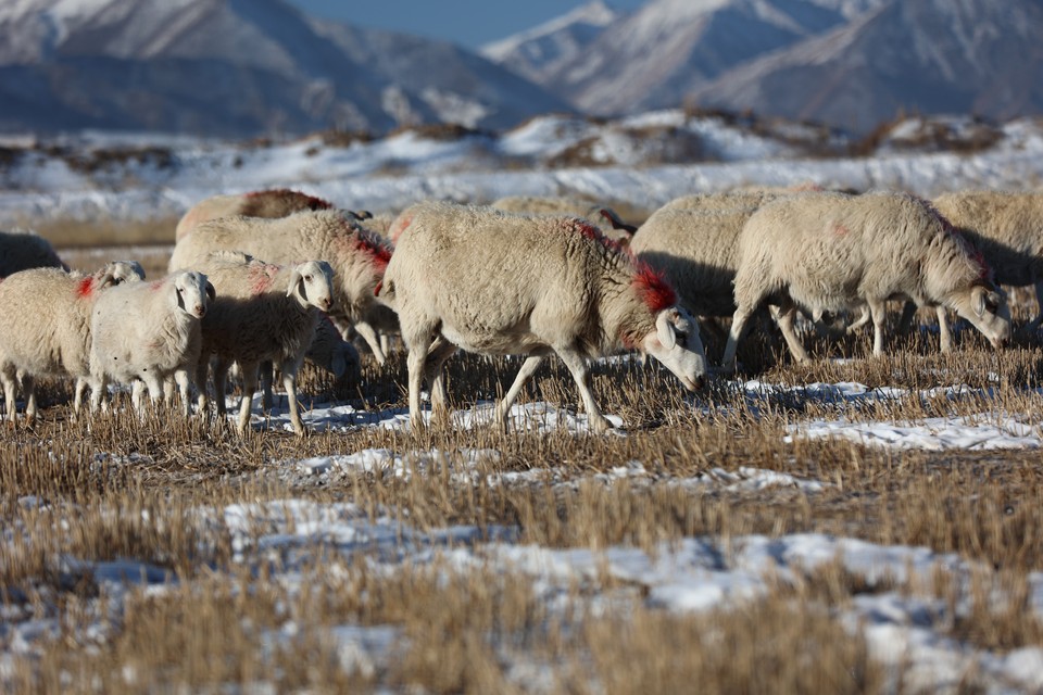
M 962 191 L 934 206 L 985 257 L 1000 285 L 1035 287 L 1039 309 L 1025 330 L 1043 321 L 1043 193 Z

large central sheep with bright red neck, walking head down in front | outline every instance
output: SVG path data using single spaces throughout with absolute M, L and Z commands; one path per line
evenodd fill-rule
M 612 425 L 590 390 L 587 361 L 625 348 L 648 351 L 690 390 L 706 375 L 695 319 L 673 289 L 588 220 L 428 203 L 414 210 L 378 292 L 399 314 L 409 349 L 410 417 L 420 419 L 420 384 L 445 412 L 442 364 L 457 348 L 527 355 L 495 418 L 507 414 L 542 359 L 568 367 L 591 428 Z

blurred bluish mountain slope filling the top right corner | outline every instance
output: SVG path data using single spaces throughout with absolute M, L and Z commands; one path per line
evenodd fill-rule
M 892 2 L 852 24 L 729 72 L 702 104 L 865 131 L 896 113 L 1043 113 L 1038 0 Z

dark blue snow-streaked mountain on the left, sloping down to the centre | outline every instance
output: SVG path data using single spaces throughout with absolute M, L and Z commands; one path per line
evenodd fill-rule
M 0 37 L 7 131 L 503 128 L 568 110 L 458 47 L 313 21 L 284 0 L 9 0 Z

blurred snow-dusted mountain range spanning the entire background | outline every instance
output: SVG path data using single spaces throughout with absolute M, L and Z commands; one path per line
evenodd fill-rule
M 502 130 L 683 104 L 865 134 L 1043 113 L 1040 36 L 1039 0 L 593 0 L 475 53 L 286 0 L 4 0 L 0 132 Z

